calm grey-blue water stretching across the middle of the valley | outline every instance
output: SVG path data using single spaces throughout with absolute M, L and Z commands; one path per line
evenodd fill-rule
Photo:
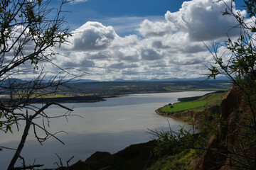
M 65 106 L 73 108 L 73 114 L 82 116 L 70 116 L 50 120 L 50 132 L 60 132 L 56 136 L 65 145 L 53 137 L 40 145 L 33 135 L 31 128 L 26 145 L 21 152 L 26 159 L 26 164 L 44 164 L 43 168 L 57 167 L 59 157 L 63 163 L 74 156 L 70 164 L 85 161 L 87 157 L 96 151 L 110 153 L 118 152 L 129 145 L 151 140 L 149 130 L 168 130 L 169 124 L 172 130 L 179 130 L 182 127 L 191 128 L 179 120 L 173 120 L 157 115 L 155 110 L 168 103 L 178 102 L 177 98 L 201 96 L 210 91 L 186 91 L 164 94 L 134 94 L 117 98 L 107 98 L 107 101 L 97 103 L 65 103 Z M 63 108 L 56 106 L 48 108 L 48 115 L 60 115 L 65 113 Z M 41 120 L 37 120 L 41 123 Z M 20 131 L 14 134 L 0 132 L 0 146 L 14 147 L 23 132 L 23 125 Z M 67 134 L 68 133 L 68 134 Z M 43 135 L 38 131 L 38 135 Z M 14 151 L 3 149 L 0 151 L 0 169 L 6 169 Z M 18 162 L 16 166 L 21 166 Z M 43 169 L 42 168 L 42 169 Z

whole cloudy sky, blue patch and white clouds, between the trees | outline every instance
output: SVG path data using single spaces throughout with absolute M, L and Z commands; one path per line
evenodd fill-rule
M 203 42 L 239 34 L 214 1 L 76 0 L 64 6 L 72 44 L 56 47 L 53 62 L 99 81 L 205 77 L 213 60 Z

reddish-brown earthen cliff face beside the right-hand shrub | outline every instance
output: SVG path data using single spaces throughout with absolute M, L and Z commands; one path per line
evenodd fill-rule
M 231 88 L 220 104 L 222 123 L 218 125 L 218 133 L 210 137 L 208 149 L 203 152 L 201 157 L 198 157 L 193 169 L 231 169 L 229 165 L 223 166 L 222 164 L 233 164 L 233 160 L 228 157 L 234 157 L 235 149 L 240 149 L 241 136 L 237 134 L 241 132 L 240 125 L 245 124 L 244 115 L 247 113 L 250 113 L 250 110 L 245 106 L 240 89 L 238 87 Z M 216 150 L 218 152 L 215 152 Z M 255 154 L 253 149 L 250 149 L 249 152 Z

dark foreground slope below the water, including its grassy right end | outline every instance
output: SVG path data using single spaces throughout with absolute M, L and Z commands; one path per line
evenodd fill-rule
M 194 135 L 194 137 L 197 139 L 198 135 Z M 176 141 L 168 148 L 160 148 L 158 141 L 151 140 L 146 143 L 131 145 L 115 154 L 95 152 L 85 161 L 80 160 L 71 166 L 66 166 L 65 162 L 58 162 L 59 167 L 56 170 L 185 169 L 196 158 L 197 154 L 193 149 L 186 149 L 182 146 L 175 147 L 178 143 L 181 144 L 181 142 Z

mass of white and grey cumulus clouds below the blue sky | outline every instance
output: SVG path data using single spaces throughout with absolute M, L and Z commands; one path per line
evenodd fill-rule
M 202 40 L 208 44 L 226 40 L 227 33 L 239 33 L 230 30 L 237 24 L 235 18 L 223 16 L 223 11 L 222 2 L 184 1 L 179 11 L 166 11 L 164 21 L 146 19 L 138 25 L 139 34 L 125 37 L 117 35 L 112 26 L 87 22 L 73 30 L 71 45 L 55 49 L 66 57 L 53 62 L 78 67 L 90 73 L 86 79 L 96 80 L 203 77 L 205 65 L 213 60 Z

